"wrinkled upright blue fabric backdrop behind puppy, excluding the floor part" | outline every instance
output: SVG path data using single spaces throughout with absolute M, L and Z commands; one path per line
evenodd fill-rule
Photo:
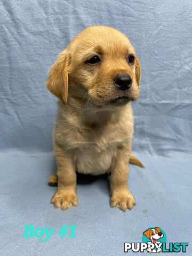
M 142 68 L 133 150 L 191 153 L 191 1 L 3 1 L 2 151 L 51 151 L 55 97 L 45 83 L 58 53 L 87 26 L 125 33 Z

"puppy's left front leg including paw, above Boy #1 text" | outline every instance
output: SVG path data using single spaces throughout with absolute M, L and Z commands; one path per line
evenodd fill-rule
M 51 199 L 55 208 L 66 210 L 70 206 L 77 205 L 76 195 L 76 171 L 72 156 L 60 147 L 54 150 L 58 166 L 58 189 Z

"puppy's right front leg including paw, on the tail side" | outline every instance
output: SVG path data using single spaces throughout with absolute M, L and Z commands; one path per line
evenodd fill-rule
M 128 188 L 129 157 L 127 150 L 118 149 L 117 158 L 111 165 L 111 207 L 126 211 L 136 204 L 134 196 Z

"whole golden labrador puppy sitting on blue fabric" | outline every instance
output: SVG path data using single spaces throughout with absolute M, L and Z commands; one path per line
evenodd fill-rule
M 135 204 L 127 180 L 131 155 L 131 101 L 139 95 L 140 63 L 129 39 L 115 28 L 92 26 L 78 34 L 50 69 L 47 88 L 56 95 L 53 131 L 57 183 L 54 206 L 77 205 L 76 171 L 111 173 L 111 207 Z

